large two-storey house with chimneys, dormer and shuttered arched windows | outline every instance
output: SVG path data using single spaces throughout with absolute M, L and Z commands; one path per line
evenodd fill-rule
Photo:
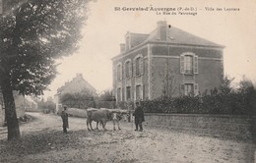
M 221 85 L 224 46 L 165 21 L 149 34 L 127 32 L 112 58 L 117 102 L 198 95 Z

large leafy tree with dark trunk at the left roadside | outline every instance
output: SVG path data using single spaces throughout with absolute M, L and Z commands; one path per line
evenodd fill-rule
M 77 49 L 86 0 L 4 0 L 0 18 L 0 87 L 8 139 L 20 137 L 13 90 L 43 94 L 55 78 L 56 59 Z

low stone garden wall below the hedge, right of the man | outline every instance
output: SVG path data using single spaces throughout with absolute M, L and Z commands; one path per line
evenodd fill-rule
M 255 120 L 249 116 L 145 113 L 145 125 L 153 127 L 242 137 L 251 137 L 252 131 L 255 136 Z

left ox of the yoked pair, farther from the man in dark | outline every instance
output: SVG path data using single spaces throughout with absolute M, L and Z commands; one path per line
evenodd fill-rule
M 102 125 L 102 128 L 104 131 L 106 131 L 105 129 L 105 125 L 107 121 L 110 121 L 111 118 L 111 112 L 107 109 L 95 109 L 95 108 L 90 108 L 87 109 L 87 128 L 90 131 L 93 131 L 92 128 L 92 122 L 95 121 L 96 122 L 96 129 L 98 126 L 98 123 L 100 123 Z M 90 126 L 90 128 L 89 128 Z

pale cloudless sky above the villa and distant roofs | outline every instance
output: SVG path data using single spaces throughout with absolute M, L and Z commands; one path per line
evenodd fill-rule
M 163 15 L 163 12 L 156 11 L 115 11 L 116 7 L 174 8 L 176 15 Z M 180 15 L 177 10 L 181 8 L 184 12 L 196 12 L 196 15 Z M 185 11 L 186 8 L 190 11 Z M 217 8 L 222 11 L 217 11 Z M 244 77 L 256 81 L 254 0 L 98 0 L 90 3 L 89 9 L 80 49 L 58 61 L 61 63 L 59 75 L 48 86 L 50 91 L 44 92 L 45 97 L 53 97 L 58 87 L 65 81 L 71 81 L 78 73 L 83 74 L 98 92 L 110 89 L 111 58 L 119 54 L 119 44 L 124 43 L 126 32 L 150 33 L 158 21 L 166 21 L 172 27 L 224 45 L 224 74 L 235 78 L 235 81 Z

